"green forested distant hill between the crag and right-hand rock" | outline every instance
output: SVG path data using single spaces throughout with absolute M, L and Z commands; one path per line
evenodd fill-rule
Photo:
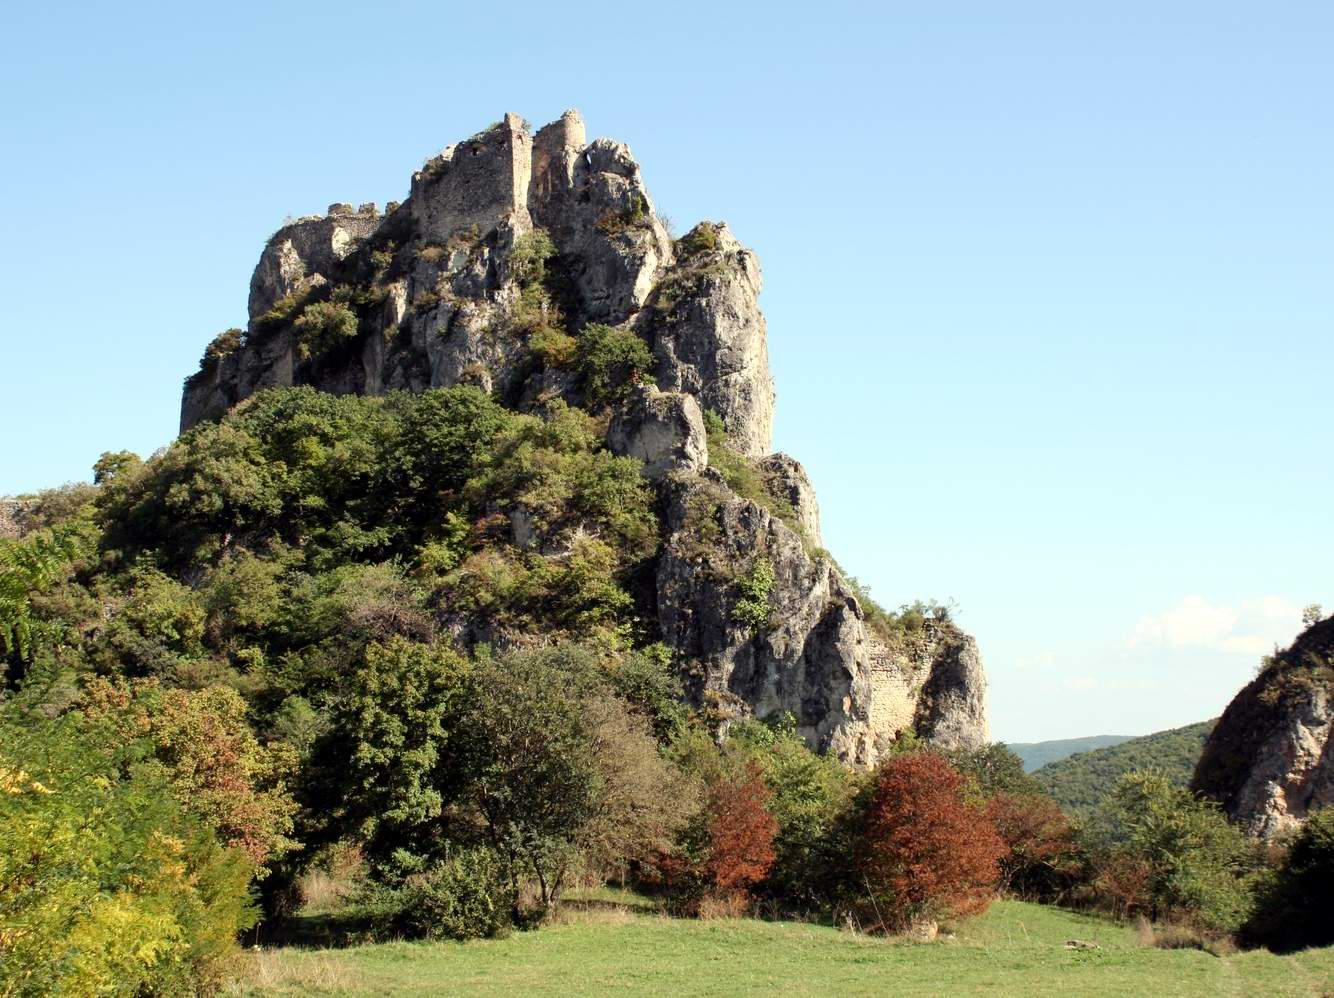
M 1217 718 L 1130 738 L 1106 748 L 1077 753 L 1047 763 L 1033 775 L 1070 814 L 1091 811 L 1107 797 L 1121 775 L 1131 770 L 1163 770 L 1185 787 L 1190 783 L 1205 739 L 1215 723 Z M 1011 748 L 1018 751 L 1015 746 Z

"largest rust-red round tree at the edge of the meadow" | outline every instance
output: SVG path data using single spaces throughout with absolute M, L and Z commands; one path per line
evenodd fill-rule
M 979 914 L 991 903 L 1006 847 L 963 778 L 935 753 L 880 766 L 856 843 L 863 922 L 899 931 L 914 922 Z

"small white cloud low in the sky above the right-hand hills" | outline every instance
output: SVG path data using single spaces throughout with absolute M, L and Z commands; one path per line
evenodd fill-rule
M 1235 604 L 1190 595 L 1161 614 L 1146 614 L 1130 635 L 1130 647 L 1210 648 L 1258 658 L 1286 644 L 1301 630 L 1302 608 L 1282 596 Z

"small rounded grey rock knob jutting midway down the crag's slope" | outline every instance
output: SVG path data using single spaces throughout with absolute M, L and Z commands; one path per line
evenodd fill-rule
M 607 431 L 612 452 L 644 462 L 644 475 L 660 479 L 679 471 L 698 475 L 708 467 L 704 416 L 692 395 L 635 388 Z

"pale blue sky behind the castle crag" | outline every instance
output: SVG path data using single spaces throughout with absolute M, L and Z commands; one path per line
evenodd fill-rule
M 1334 5 L 9 4 L 0 494 L 171 440 L 287 215 L 504 111 L 764 266 L 775 444 L 998 738 L 1218 712 L 1334 603 Z

